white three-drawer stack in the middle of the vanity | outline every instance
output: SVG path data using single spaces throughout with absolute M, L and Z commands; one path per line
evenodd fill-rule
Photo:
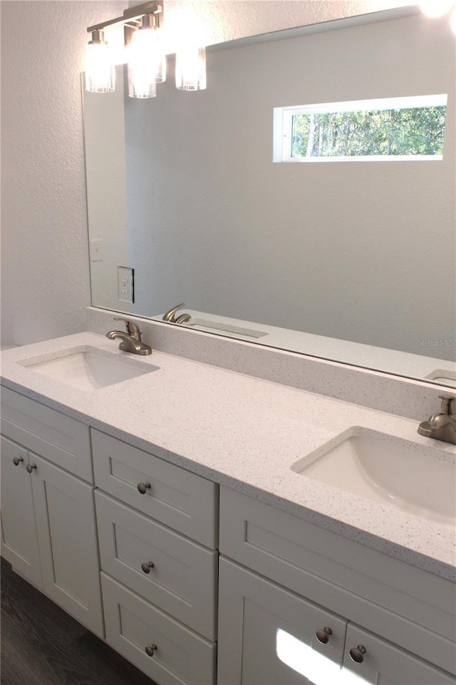
M 160 685 L 216 679 L 217 485 L 92 430 L 106 640 Z

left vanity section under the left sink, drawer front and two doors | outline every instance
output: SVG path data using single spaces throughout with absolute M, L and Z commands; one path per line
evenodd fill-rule
M 8 389 L 1 414 L 1 554 L 103 636 L 89 429 Z

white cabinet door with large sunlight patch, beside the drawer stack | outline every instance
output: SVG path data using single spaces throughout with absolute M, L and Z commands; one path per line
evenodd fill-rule
M 219 685 L 338 682 L 344 619 L 224 558 L 219 581 Z

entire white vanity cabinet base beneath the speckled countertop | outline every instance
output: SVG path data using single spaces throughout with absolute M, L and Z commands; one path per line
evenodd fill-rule
M 152 681 L 456 685 L 454 583 L 6 388 L 1 410 L 1 554 Z

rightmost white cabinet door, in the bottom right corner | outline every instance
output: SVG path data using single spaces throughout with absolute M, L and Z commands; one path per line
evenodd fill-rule
M 343 685 L 456 685 L 456 678 L 410 652 L 349 623 Z

